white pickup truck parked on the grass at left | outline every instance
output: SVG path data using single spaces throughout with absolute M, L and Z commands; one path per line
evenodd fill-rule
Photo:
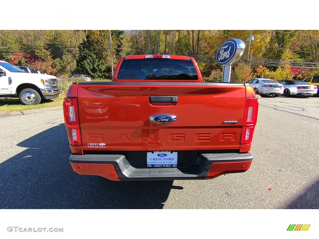
M 59 94 L 56 76 L 27 73 L 0 61 L 0 99 L 19 98 L 23 105 L 37 105 L 41 99 L 57 98 Z

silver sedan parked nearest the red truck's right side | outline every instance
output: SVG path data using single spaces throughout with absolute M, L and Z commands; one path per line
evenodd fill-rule
M 278 97 L 284 93 L 283 84 L 271 79 L 255 78 L 246 83 L 248 83 L 254 89 L 255 93 L 259 95 Z

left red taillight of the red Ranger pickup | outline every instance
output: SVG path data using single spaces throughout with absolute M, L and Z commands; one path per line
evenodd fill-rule
M 63 113 L 64 123 L 70 144 L 81 145 L 81 133 L 78 121 L 78 104 L 76 98 L 64 98 Z

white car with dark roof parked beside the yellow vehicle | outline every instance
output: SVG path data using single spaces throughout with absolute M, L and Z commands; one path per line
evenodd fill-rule
M 297 80 L 284 80 L 279 83 L 284 85 L 284 96 L 291 95 L 310 97 L 317 93 L 318 88 L 316 85 L 309 85 L 305 81 Z

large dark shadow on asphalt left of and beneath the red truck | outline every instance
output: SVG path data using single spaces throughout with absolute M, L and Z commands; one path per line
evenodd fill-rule
M 162 209 L 173 181 L 113 182 L 75 174 L 64 124 L 18 144 L 27 149 L 0 163 L 0 208 Z

